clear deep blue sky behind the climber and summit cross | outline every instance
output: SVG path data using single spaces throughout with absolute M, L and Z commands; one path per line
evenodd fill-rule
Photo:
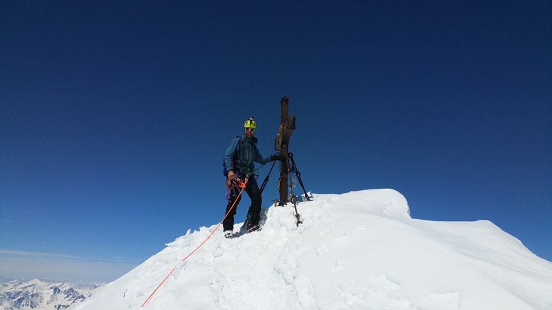
M 218 223 L 224 150 L 255 116 L 272 154 L 284 94 L 308 191 L 397 189 L 552 260 L 550 1 L 267 2 L 2 1 L 0 262 L 113 280 Z

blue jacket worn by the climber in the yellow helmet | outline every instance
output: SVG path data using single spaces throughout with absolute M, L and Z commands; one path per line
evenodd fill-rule
M 242 141 L 240 143 L 240 140 Z M 224 154 L 224 163 L 226 169 L 241 172 L 242 174 L 253 174 L 255 164 L 261 165 L 270 163 L 270 156 L 263 157 L 257 149 L 257 138 L 235 137 L 230 143 L 226 153 Z

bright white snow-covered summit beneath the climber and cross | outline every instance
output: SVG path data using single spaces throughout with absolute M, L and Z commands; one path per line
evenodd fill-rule
M 201 227 L 77 309 L 552 309 L 552 262 L 487 220 L 411 218 L 392 189 L 313 195 L 232 239 Z M 240 225 L 236 225 L 238 228 Z

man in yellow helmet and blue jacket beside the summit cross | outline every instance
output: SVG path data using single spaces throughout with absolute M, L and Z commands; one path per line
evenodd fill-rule
M 254 136 L 255 130 L 257 130 L 257 123 L 255 123 L 253 117 L 250 117 L 244 124 L 244 136 L 233 138 L 232 143 L 230 143 L 224 154 L 224 175 L 227 176 L 226 181 L 229 187 L 226 213 L 228 213 L 230 208 L 233 208 L 222 222 L 226 238 L 232 238 L 234 215 L 236 214 L 239 200 L 242 198 L 241 196 L 238 197 L 240 192 L 239 181 L 244 182 L 247 179 L 244 190 L 251 199 L 251 206 L 247 212 L 247 231 L 259 230 L 262 197 L 254 176 L 254 162 L 264 165 L 270 161 L 283 161 L 285 159 L 284 155 L 279 153 L 263 157 L 259 153 L 259 149 L 257 149 L 257 138 Z

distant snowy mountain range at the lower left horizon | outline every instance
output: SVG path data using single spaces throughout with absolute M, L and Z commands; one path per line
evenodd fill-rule
M 0 310 L 72 309 L 101 285 L 12 280 L 0 285 Z

